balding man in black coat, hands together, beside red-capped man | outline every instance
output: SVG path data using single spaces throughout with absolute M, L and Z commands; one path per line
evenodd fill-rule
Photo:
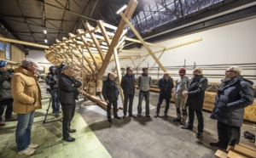
M 189 122 L 188 126 L 183 126 L 183 129 L 193 129 L 195 114 L 198 120 L 198 133 L 197 138 L 201 138 L 203 135 L 204 119 L 202 114 L 203 103 L 205 99 L 205 91 L 207 89 L 208 80 L 202 75 L 201 68 L 197 68 L 193 71 L 194 77 L 189 83 L 189 90 L 183 92 L 183 96 L 187 97 L 186 105 L 189 106 Z

